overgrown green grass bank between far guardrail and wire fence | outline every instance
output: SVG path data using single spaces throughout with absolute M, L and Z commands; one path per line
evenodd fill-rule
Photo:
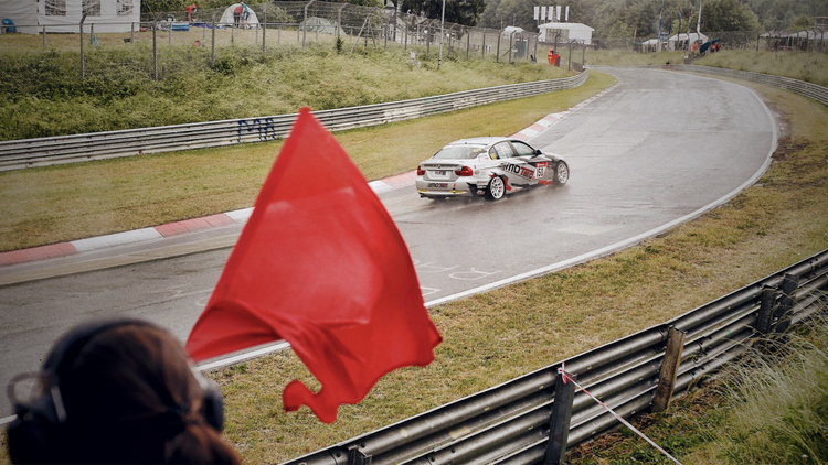
M 435 50 L 417 50 L 417 65 L 402 48 L 337 53 L 325 42 L 274 45 L 266 54 L 253 44 L 223 46 L 211 68 L 210 48 L 163 43 L 156 82 L 152 47 L 141 34 L 135 47 L 88 50 L 85 79 L 77 50 L 32 52 L 23 40 L 36 36 L 0 35 L 0 140 L 325 110 L 566 75 L 527 62 L 466 61 L 456 50 L 438 71 Z

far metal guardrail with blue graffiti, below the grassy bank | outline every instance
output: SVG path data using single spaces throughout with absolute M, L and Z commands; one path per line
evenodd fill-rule
M 511 84 L 389 104 L 314 111 L 331 131 L 383 125 L 478 105 L 532 97 L 581 86 L 584 71 L 561 79 Z M 296 113 L 231 119 L 124 131 L 0 142 L 0 171 L 102 160 L 116 156 L 202 149 L 277 140 L 293 127 Z

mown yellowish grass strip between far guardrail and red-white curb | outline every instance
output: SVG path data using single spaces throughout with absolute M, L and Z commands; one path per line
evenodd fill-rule
M 592 73 L 575 89 L 336 137 L 364 176 L 375 180 L 414 170 L 450 140 L 512 134 L 614 82 Z M 0 251 L 250 207 L 280 147 L 251 143 L 2 172 Z

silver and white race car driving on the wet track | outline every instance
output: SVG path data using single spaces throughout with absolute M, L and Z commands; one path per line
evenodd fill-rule
M 566 162 L 554 153 L 510 138 L 473 138 L 454 141 L 417 166 L 421 197 L 485 196 L 541 185 L 561 186 L 570 179 Z

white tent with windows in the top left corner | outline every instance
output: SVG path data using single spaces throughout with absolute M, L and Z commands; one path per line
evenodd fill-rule
M 0 0 L 0 19 L 14 21 L 18 32 L 39 34 L 84 31 L 129 32 L 141 19 L 140 0 Z

